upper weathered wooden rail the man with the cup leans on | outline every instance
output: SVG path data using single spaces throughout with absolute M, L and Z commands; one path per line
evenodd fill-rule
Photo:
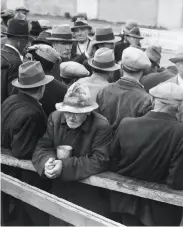
M 1 163 L 35 171 L 31 161 L 18 160 L 5 154 L 1 154 Z M 166 185 L 139 181 L 111 172 L 100 173 L 81 182 L 183 207 L 183 191 L 172 190 Z

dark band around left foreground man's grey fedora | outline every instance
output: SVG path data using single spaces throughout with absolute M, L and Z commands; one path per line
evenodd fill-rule
M 27 77 L 26 73 L 21 73 L 19 75 L 18 81 L 22 85 L 31 85 L 43 80 L 44 78 L 45 78 L 45 74 L 43 71 L 35 74 L 32 77 Z

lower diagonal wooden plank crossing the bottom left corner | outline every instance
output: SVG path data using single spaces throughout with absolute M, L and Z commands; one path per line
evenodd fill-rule
M 72 225 L 124 226 L 4 173 L 1 190 Z

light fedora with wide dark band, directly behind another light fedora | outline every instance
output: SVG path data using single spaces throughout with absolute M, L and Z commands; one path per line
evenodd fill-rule
M 95 35 L 91 38 L 88 36 L 90 40 L 94 43 L 117 43 L 121 40 L 121 37 L 114 36 L 113 30 L 111 27 L 106 28 L 97 28 Z

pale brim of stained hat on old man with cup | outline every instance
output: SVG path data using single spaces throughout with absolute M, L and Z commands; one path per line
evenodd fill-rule
M 69 105 L 61 102 L 61 103 L 56 103 L 55 107 L 60 112 L 89 113 L 89 112 L 92 112 L 93 110 L 97 109 L 98 104 L 96 102 L 92 101 L 90 106 L 86 106 L 86 107 L 81 108 L 81 107 L 69 106 Z

